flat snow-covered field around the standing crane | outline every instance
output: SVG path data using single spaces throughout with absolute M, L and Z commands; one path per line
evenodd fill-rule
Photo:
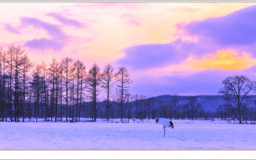
M 256 125 L 172 120 L 145 123 L 0 123 L 0 150 L 256 150 Z

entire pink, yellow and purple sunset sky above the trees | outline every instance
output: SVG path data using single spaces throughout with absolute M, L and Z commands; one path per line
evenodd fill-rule
M 32 61 L 127 67 L 131 93 L 217 95 L 256 80 L 256 3 L 0 3 L 0 44 Z

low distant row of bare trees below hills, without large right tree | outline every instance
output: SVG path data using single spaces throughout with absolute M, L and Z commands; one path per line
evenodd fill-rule
M 109 118 L 120 118 L 120 107 L 116 101 L 109 102 L 111 107 L 109 110 Z M 161 101 L 157 97 L 147 97 L 145 95 L 125 96 L 123 117 L 131 119 L 147 119 L 147 118 L 170 118 L 175 120 L 212 120 L 220 118 L 221 120 L 238 120 L 238 109 L 230 106 L 227 101 L 221 100 L 220 106 L 214 109 L 205 110 L 202 102 L 196 96 L 189 96 L 188 99 L 182 99 L 180 95 L 172 95 L 170 100 Z M 243 102 L 242 120 L 256 120 L 255 99 Z M 106 102 L 97 105 L 99 118 L 106 118 Z M 232 109 L 233 108 L 233 109 Z

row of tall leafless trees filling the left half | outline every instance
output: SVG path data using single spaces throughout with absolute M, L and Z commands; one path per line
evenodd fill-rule
M 33 63 L 20 45 L 10 45 L 4 50 L 0 47 L 0 118 L 10 118 L 19 122 L 26 117 L 44 117 L 45 120 L 65 116 L 72 117 L 72 122 L 79 121 L 84 102 L 90 110 L 92 120 L 97 118 L 99 93 L 106 92 L 106 109 L 109 117 L 109 100 L 116 91 L 123 117 L 125 97 L 131 79 L 127 68 L 120 67 L 115 72 L 108 64 L 100 71 L 96 63 L 86 72 L 84 63 L 72 58 L 61 61 L 52 58 L 47 63 Z M 114 90 L 115 88 L 115 90 Z

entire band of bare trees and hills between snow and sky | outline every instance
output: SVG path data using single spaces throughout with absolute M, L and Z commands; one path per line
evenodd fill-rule
M 20 45 L 0 47 L 0 120 L 25 122 L 79 122 L 80 118 L 170 118 L 189 120 L 256 121 L 255 81 L 246 76 L 227 77 L 218 96 L 132 95 L 126 67 L 109 63 L 89 70 L 83 61 L 52 58 L 33 63 Z M 170 91 L 171 92 L 171 91 Z M 104 99 L 99 99 L 99 94 Z M 254 122 L 252 122 L 254 121 Z

